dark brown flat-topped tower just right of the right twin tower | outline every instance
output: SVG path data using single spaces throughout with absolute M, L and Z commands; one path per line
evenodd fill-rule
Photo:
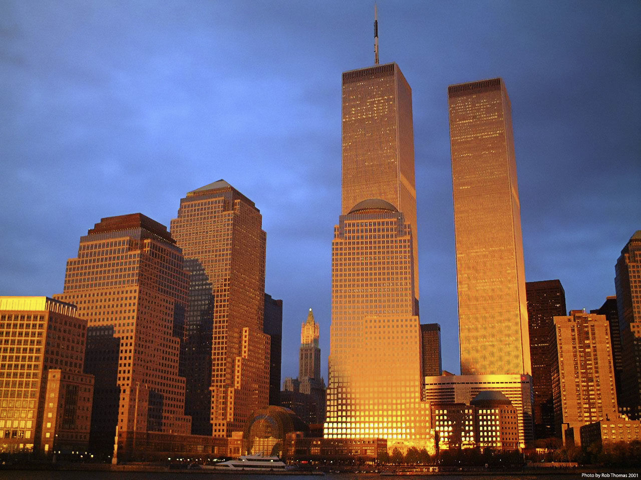
M 535 436 L 548 438 L 554 435 L 552 372 L 553 365 L 558 362 L 554 317 L 564 316 L 567 312 L 565 290 L 559 280 L 526 282 L 525 288 L 534 383 Z

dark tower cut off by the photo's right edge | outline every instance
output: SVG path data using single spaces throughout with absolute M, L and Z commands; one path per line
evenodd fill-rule
M 624 411 L 641 419 L 641 230 L 621 250 L 615 266 L 621 335 L 621 396 Z

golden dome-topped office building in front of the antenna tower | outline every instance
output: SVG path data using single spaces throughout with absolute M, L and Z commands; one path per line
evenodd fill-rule
M 340 216 L 325 438 L 428 446 L 412 248 L 412 226 L 385 200 L 365 200 Z

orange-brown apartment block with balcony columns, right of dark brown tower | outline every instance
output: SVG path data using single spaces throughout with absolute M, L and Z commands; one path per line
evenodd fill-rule
M 558 370 L 553 372 L 556 431 L 619 416 L 610 325 L 603 315 L 571 310 L 554 317 Z M 565 435 L 564 435 L 565 436 Z

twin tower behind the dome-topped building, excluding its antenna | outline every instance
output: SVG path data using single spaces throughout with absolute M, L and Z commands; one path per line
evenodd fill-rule
M 412 228 L 414 294 L 419 249 L 414 180 L 412 88 L 395 63 L 343 73 L 342 210 L 379 198 L 403 212 Z

